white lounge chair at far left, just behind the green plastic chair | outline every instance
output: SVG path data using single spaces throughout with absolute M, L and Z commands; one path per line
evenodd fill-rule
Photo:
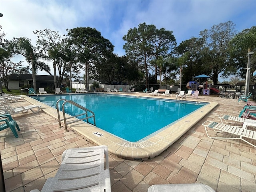
M 26 113 L 29 110 L 32 111 L 33 113 L 38 113 L 40 111 L 41 107 L 42 107 L 42 105 L 28 105 L 28 106 L 12 107 L 12 106 L 7 106 L 3 103 L 0 103 L 0 109 L 7 110 L 11 115 L 18 114 L 20 112 Z

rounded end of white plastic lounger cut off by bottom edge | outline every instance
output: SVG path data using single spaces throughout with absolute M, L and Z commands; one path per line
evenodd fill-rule
M 148 192 L 215 192 L 213 188 L 201 183 L 191 184 L 156 184 L 148 188 Z

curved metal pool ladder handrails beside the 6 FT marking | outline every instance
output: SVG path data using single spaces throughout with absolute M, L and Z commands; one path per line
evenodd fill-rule
M 59 110 L 58 105 L 59 105 L 59 102 L 62 101 L 62 100 L 64 100 L 64 102 L 63 102 L 63 104 L 62 104 L 63 119 L 60 119 L 60 110 Z M 71 104 L 71 105 L 74 105 L 74 106 L 76 106 L 76 107 L 78 107 L 78 108 L 84 110 L 84 113 L 78 114 L 78 115 L 75 115 L 75 116 L 71 116 L 71 117 L 67 117 L 67 118 L 66 118 L 66 113 L 65 113 L 65 108 L 64 108 L 64 106 L 65 106 L 65 104 L 67 104 L 67 103 L 69 103 L 69 104 Z M 72 124 L 72 123 L 75 123 L 75 122 L 78 122 L 78 121 L 86 120 L 87 123 L 92 124 L 92 123 L 90 123 L 90 122 L 88 121 L 88 119 L 90 119 L 90 118 L 93 118 L 93 120 L 94 120 L 94 124 L 92 124 L 92 125 L 96 126 L 96 123 L 95 123 L 95 114 L 94 114 L 94 112 L 92 112 L 91 110 L 89 110 L 89 109 L 87 109 L 87 108 L 85 108 L 85 107 L 83 107 L 83 106 L 77 104 L 77 103 L 74 102 L 74 101 L 66 100 L 66 99 L 63 99 L 63 98 L 62 98 L 62 99 L 59 99 L 59 100 L 56 102 L 56 108 L 57 108 L 57 113 L 58 113 L 59 126 L 62 127 L 62 126 L 61 126 L 61 121 L 64 120 L 65 131 L 68 131 L 68 128 L 67 128 L 67 125 L 68 125 L 68 124 Z M 91 116 L 88 116 L 88 112 L 90 112 L 92 115 L 91 115 Z M 86 115 L 86 117 L 81 118 L 81 119 L 78 119 L 78 118 L 77 118 L 77 117 L 82 116 L 82 115 Z M 73 120 L 70 120 L 70 121 L 67 122 L 68 119 L 73 119 Z

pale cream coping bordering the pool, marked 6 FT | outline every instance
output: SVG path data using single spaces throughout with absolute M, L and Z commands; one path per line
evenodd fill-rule
M 86 94 L 86 93 L 85 93 Z M 96 94 L 96 93 L 95 93 Z M 104 93 L 104 94 L 118 94 L 118 93 Z M 124 94 L 122 94 L 124 95 Z M 127 94 L 130 96 L 130 94 Z M 162 96 L 138 96 L 149 98 L 163 98 Z M 165 99 L 175 100 L 173 97 L 164 97 Z M 42 105 L 41 109 L 48 115 L 52 116 L 58 121 L 57 110 L 38 102 L 37 100 L 24 96 L 24 99 L 34 105 Z M 187 98 L 188 101 L 206 102 L 206 106 L 196 110 L 194 113 L 182 118 L 182 120 L 172 124 L 152 137 L 138 142 L 128 142 L 118 138 L 102 129 L 99 129 L 91 124 L 79 121 L 68 125 L 68 128 L 76 134 L 83 136 L 86 140 L 96 145 L 108 146 L 108 151 L 117 157 L 130 160 L 146 160 L 154 158 L 176 142 L 183 134 L 185 134 L 192 126 L 206 116 L 218 103 L 210 101 L 200 101 L 198 99 Z M 179 101 L 180 102 L 180 101 Z M 63 117 L 60 113 L 61 118 Z M 66 115 L 68 116 L 68 115 Z M 63 122 L 62 122 L 63 123 Z

